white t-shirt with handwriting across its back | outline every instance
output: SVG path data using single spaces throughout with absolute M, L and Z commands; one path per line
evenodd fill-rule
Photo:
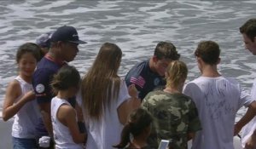
M 232 149 L 236 112 L 253 102 L 235 79 L 198 77 L 184 86 L 183 93 L 195 101 L 202 130 L 192 149 Z

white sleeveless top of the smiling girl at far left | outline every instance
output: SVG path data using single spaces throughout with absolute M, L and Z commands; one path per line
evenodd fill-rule
M 21 95 L 15 102 L 25 95 L 28 91 L 32 90 L 32 84 L 26 83 L 20 76 L 15 77 L 20 83 Z M 37 131 L 35 126 L 38 123 L 40 112 L 36 100 L 26 102 L 24 106 L 20 108 L 20 111 L 15 114 L 15 121 L 12 128 L 12 136 L 16 138 L 32 139 L 37 138 Z

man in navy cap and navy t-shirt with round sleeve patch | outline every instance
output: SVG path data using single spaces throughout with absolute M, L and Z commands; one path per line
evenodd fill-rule
M 85 42 L 79 40 L 78 32 L 73 26 L 61 26 L 50 37 L 49 52 L 38 63 L 32 79 L 33 89 L 42 113 L 42 119 L 38 123 L 39 136 L 52 136 L 50 101 L 55 95 L 49 84 L 61 66 L 67 65 L 67 62 L 75 58 L 79 52 L 78 45 L 82 43 Z

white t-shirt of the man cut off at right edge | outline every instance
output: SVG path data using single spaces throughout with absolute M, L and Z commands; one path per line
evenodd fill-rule
M 251 96 L 253 100 L 256 100 L 256 78 L 253 81 L 253 88 L 251 90 Z M 247 125 L 245 125 L 243 127 L 243 129 L 241 129 L 241 146 L 244 147 L 245 143 L 247 142 L 247 140 L 249 139 L 249 137 L 251 135 L 253 135 L 253 131 L 256 129 L 256 117 L 253 117 L 253 119 L 247 123 Z M 256 146 L 254 147 L 256 149 Z

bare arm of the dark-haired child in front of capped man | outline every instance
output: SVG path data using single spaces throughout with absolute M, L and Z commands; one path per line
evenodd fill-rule
M 76 121 L 76 112 L 72 106 L 61 106 L 59 111 L 57 112 L 57 118 L 60 120 L 61 123 L 68 127 L 75 143 L 85 142 L 86 135 L 79 132 L 79 126 Z

